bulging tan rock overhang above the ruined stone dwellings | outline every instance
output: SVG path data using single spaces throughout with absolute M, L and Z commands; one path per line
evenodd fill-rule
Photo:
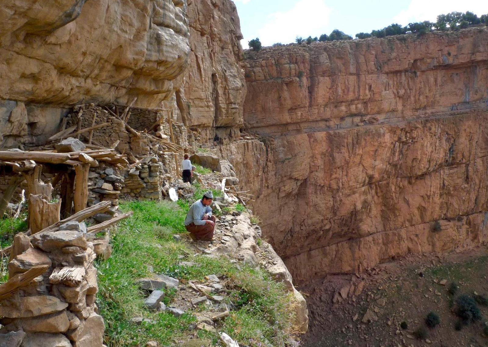
M 157 107 L 188 64 L 182 0 L 7 0 L 0 19 L 0 133 L 12 134 L 3 146 L 51 132 L 62 106 L 137 96 Z M 39 104 L 54 108 L 29 109 Z

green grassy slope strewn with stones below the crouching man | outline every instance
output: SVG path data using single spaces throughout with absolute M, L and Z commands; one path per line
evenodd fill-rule
M 265 341 L 276 345 L 277 335 L 290 331 L 293 315 L 291 298 L 281 284 L 273 282 L 261 270 L 239 269 L 225 257 L 218 260 L 191 254 L 188 245 L 174 241 L 172 234 L 186 232 L 183 227 L 186 203 L 130 202 L 122 203 L 123 211 L 133 210 L 134 215 L 119 225 L 113 236 L 113 252 L 107 261 L 98 262 L 99 294 L 97 304 L 106 324 L 105 344 L 109 347 L 142 346 L 151 340 L 163 346 L 178 345 L 188 336 L 205 338 L 217 344 L 215 333 L 202 330 L 190 331 L 188 326 L 196 318 L 191 312 L 175 318 L 166 312 L 150 312 L 143 307 L 144 293 L 137 280 L 154 273 L 180 279 L 203 279 L 205 275 L 224 274 L 227 295 L 238 310 L 233 311 L 218 331 L 225 331 L 240 343 L 248 346 L 265 346 Z M 180 259 L 185 256 L 191 259 Z M 180 266 L 184 260 L 199 265 Z M 174 293 L 166 293 L 166 305 Z M 136 326 L 132 317 L 147 317 L 155 324 Z M 203 340 L 202 340 L 203 341 Z

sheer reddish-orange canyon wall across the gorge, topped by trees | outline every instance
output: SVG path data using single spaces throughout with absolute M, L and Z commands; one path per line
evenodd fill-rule
M 487 29 L 246 55 L 244 123 L 267 140 L 222 153 L 295 280 L 487 240 Z

